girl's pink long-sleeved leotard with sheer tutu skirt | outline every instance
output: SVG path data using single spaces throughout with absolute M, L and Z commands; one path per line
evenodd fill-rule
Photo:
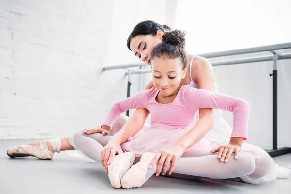
M 150 129 L 129 138 L 128 142 L 124 143 L 125 150 L 142 154 L 146 151 L 157 152 L 158 149 L 170 146 L 173 141 L 177 141 L 178 137 L 194 126 L 188 127 L 193 123 L 197 110 L 200 108 L 223 109 L 233 112 L 231 137 L 247 139 L 250 105 L 246 100 L 183 85 L 173 102 L 162 104 L 156 101 L 158 93 L 159 90 L 155 87 L 140 91 L 116 102 L 108 113 L 102 125 L 110 127 L 121 113 L 129 109 L 146 108 L 151 114 Z M 150 146 L 150 144 L 155 146 Z

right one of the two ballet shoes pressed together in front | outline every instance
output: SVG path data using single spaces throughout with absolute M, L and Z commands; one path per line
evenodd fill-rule
M 131 166 L 127 173 L 121 178 L 121 186 L 124 189 L 141 187 L 157 170 L 154 165 L 148 169 L 149 163 L 154 158 L 154 153 L 144 153 L 140 162 Z

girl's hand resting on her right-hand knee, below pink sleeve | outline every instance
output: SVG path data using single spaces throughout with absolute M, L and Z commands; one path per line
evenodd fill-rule
M 235 142 L 229 142 L 226 145 L 214 147 L 210 150 L 210 153 L 214 154 L 218 152 L 217 158 L 220 159 L 221 162 L 227 162 L 232 153 L 235 153 L 234 158 L 238 159 L 239 152 L 241 151 L 241 146 Z

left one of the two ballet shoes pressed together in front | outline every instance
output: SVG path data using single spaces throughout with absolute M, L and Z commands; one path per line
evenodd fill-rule
M 134 153 L 125 152 L 115 156 L 113 162 L 108 166 L 108 177 L 114 188 L 120 188 L 120 180 L 132 166 L 135 160 Z

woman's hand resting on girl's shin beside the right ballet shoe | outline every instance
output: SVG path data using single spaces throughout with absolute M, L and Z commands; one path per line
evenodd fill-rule
M 159 161 L 156 170 L 156 176 L 159 176 L 161 170 L 162 175 L 166 174 L 169 165 L 171 165 L 171 168 L 169 170 L 169 175 L 171 175 L 171 173 L 175 169 L 178 158 L 180 158 L 183 155 L 184 151 L 185 148 L 178 145 L 173 145 L 169 148 L 162 149 L 152 159 L 148 168 L 151 169 L 154 165 L 156 165 L 156 162 Z

